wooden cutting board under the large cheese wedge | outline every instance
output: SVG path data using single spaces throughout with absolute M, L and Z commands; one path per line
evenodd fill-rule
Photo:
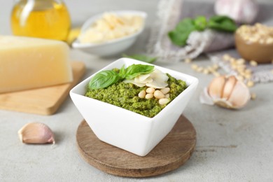
M 73 70 L 73 82 L 52 87 L 42 87 L 20 92 L 8 92 L 0 94 L 0 109 L 52 115 L 69 94 L 71 88 L 78 83 L 85 73 L 83 62 L 71 62 Z

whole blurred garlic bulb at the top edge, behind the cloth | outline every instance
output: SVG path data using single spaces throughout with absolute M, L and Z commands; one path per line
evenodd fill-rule
M 227 15 L 237 23 L 251 23 L 258 15 L 258 4 L 253 0 L 218 0 L 214 4 L 217 15 Z

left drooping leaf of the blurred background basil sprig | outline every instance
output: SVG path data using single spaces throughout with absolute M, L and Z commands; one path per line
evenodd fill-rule
M 188 36 L 192 31 L 197 30 L 192 19 L 186 18 L 176 25 L 175 29 L 169 31 L 168 36 L 174 45 L 184 46 L 187 44 Z

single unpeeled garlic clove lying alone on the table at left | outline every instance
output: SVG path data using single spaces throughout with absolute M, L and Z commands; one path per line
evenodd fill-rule
M 19 138 L 25 144 L 55 144 L 54 134 L 43 123 L 28 123 L 19 131 Z

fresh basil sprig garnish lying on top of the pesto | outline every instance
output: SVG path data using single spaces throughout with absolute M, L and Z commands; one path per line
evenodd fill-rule
M 113 70 L 104 70 L 97 73 L 89 82 L 88 88 L 96 90 L 99 88 L 109 87 L 119 80 L 132 79 L 141 74 L 148 74 L 153 71 L 155 66 L 144 64 L 132 64 L 125 69 L 123 65 L 119 72 Z

